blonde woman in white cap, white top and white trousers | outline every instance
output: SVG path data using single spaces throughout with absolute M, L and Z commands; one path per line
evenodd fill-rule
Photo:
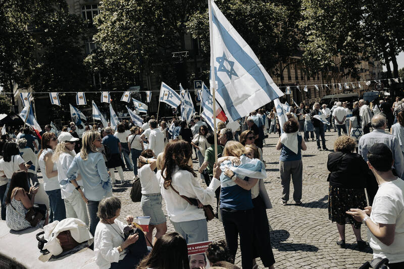
M 61 184 L 62 199 L 65 201 L 66 206 L 66 218 L 76 218 L 84 222 L 87 226 L 89 224 L 88 214 L 86 208 L 87 199 L 84 196 L 83 181 L 81 176 L 78 175 L 75 180 L 77 188 L 73 183 L 67 181 L 67 170 L 73 162 L 73 158 L 76 155 L 74 147 L 78 138 L 73 137 L 70 133 L 65 133 L 59 136 L 60 143 L 56 146 L 55 153 L 52 156 L 54 162 L 58 166 L 58 180 Z

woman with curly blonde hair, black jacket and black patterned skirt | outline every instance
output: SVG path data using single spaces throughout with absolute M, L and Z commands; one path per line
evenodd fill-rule
M 354 229 L 358 247 L 363 249 L 366 244 L 361 239 L 361 223 L 345 213 L 350 208 L 366 207 L 365 188 L 371 174 L 362 156 L 352 152 L 355 146 L 355 139 L 340 136 L 335 140 L 334 152 L 328 155 L 328 216 L 332 222 L 337 223 L 337 245 L 345 247 L 345 224 L 349 223 Z

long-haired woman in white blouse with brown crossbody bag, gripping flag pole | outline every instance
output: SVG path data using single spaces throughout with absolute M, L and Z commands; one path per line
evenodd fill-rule
M 192 168 L 192 149 L 185 140 L 168 142 L 164 151 L 162 173 L 158 173 L 167 213 L 177 233 L 187 244 L 208 241 L 208 225 L 201 208 L 215 201 L 215 190 L 222 171 L 214 168 L 214 177 L 208 188 L 202 188 Z M 178 192 L 178 193 L 177 193 Z M 199 206 L 189 204 L 180 195 L 198 200 Z

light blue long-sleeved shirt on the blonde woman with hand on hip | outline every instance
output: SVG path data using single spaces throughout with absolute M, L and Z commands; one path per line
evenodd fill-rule
M 86 160 L 83 160 L 78 153 L 67 170 L 66 176 L 69 180 L 74 180 L 77 172 L 81 175 L 84 196 L 88 200 L 100 201 L 112 195 L 111 179 L 102 153 L 91 152 Z

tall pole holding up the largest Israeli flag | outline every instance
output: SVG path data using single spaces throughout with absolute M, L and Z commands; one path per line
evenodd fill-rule
M 216 126 L 216 98 L 215 98 L 215 87 L 216 87 L 216 77 L 215 77 L 215 65 L 214 65 L 214 56 L 213 56 L 213 22 L 212 22 L 212 0 L 208 0 L 208 8 L 209 8 L 209 39 L 211 43 L 211 77 L 212 82 L 211 90 L 212 90 L 212 99 L 213 99 L 213 135 L 215 137 L 215 163 L 218 162 L 218 135 L 217 135 L 217 126 Z M 199 109 L 200 110 L 200 109 Z

